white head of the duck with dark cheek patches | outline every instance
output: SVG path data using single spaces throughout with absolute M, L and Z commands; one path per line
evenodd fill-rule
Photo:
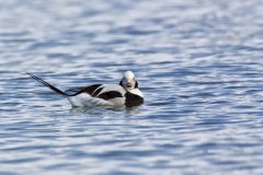
M 132 71 L 126 71 L 119 82 L 125 90 L 132 91 L 138 88 L 138 82 L 135 80 L 135 74 Z

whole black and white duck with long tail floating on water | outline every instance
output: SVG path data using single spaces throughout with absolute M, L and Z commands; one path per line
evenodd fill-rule
M 56 93 L 67 97 L 73 107 L 133 107 L 144 103 L 144 95 L 138 89 L 138 82 L 132 71 L 124 73 L 119 84 L 94 84 L 85 88 L 70 89 L 65 92 L 32 73 L 27 74 Z

